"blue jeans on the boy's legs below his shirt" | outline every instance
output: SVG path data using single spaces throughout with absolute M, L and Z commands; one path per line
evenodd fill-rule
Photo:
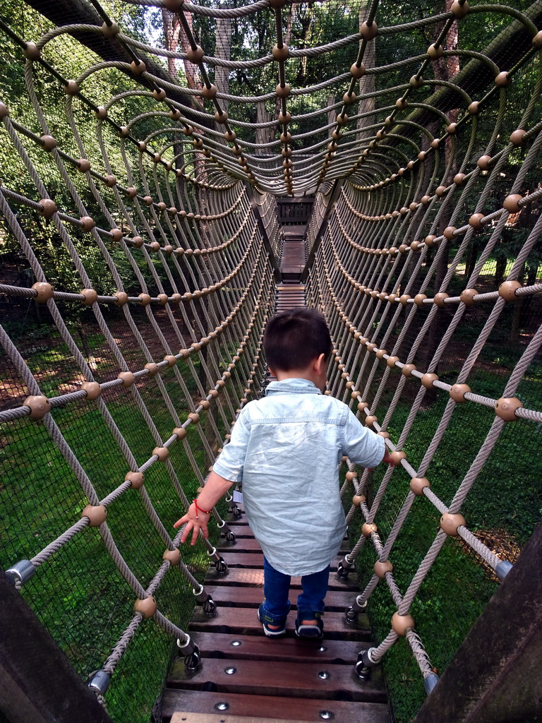
M 298 620 L 313 620 L 315 612 L 324 612 L 324 597 L 327 593 L 327 582 L 330 576 L 330 565 L 319 573 L 304 575 L 301 578 L 303 592 L 297 599 Z M 282 623 L 290 612 L 291 577 L 280 573 L 272 567 L 264 557 L 264 612 L 272 619 L 272 624 Z

